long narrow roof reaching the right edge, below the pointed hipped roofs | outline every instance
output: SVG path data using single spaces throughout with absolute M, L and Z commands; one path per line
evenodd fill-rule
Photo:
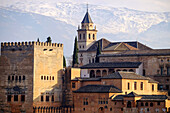
M 170 49 L 132 50 L 115 54 L 100 54 L 99 57 L 158 56 L 158 55 L 170 55 Z

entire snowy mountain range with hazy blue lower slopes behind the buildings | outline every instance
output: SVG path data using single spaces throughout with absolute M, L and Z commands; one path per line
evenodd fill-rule
M 66 56 L 72 54 L 73 40 L 86 13 L 86 4 L 15 0 L 0 3 L 0 41 L 45 41 L 64 44 Z M 170 12 L 144 12 L 127 8 L 89 5 L 98 39 L 138 40 L 153 48 L 169 48 Z M 161 41 L 160 41 L 161 40 Z

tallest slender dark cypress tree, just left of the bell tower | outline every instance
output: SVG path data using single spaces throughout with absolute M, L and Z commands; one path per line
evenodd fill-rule
M 78 44 L 77 44 L 77 36 L 75 37 L 74 42 L 74 51 L 73 51 L 73 65 L 75 67 L 78 64 Z

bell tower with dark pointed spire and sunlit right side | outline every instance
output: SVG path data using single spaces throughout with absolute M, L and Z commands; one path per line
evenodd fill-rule
M 96 26 L 94 27 L 92 19 L 88 12 L 88 5 L 87 5 L 87 12 L 81 22 L 81 27 L 78 26 L 78 49 L 87 50 L 95 41 L 97 36 Z

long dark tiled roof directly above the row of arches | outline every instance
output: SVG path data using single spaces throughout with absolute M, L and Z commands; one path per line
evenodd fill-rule
M 81 69 L 89 68 L 138 68 L 141 62 L 100 62 L 90 63 L 80 67 Z

